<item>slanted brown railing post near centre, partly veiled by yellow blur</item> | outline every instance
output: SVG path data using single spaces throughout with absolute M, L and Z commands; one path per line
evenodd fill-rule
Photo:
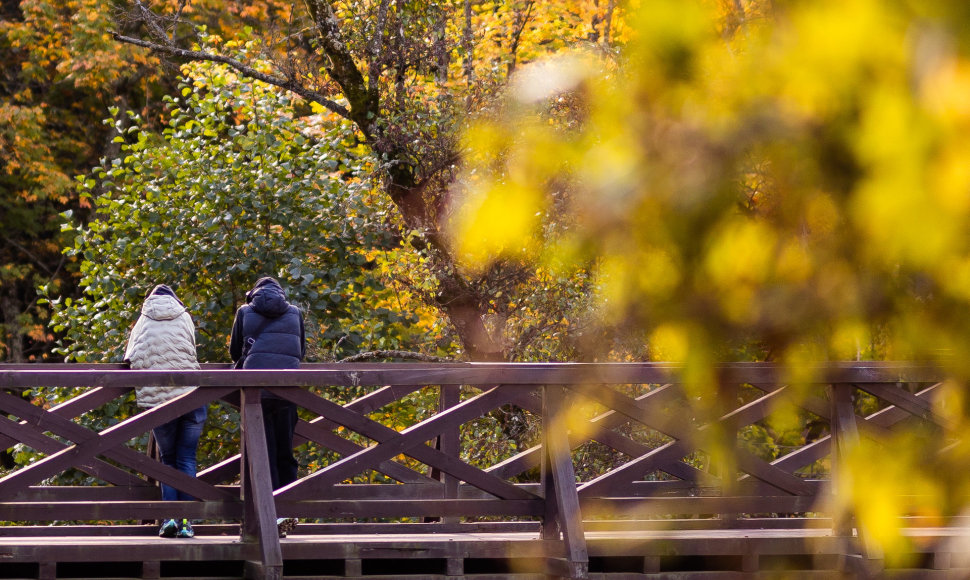
M 542 538 L 558 540 L 562 536 L 566 551 L 565 569 L 555 566 L 555 559 L 550 558 L 555 575 L 587 578 L 589 556 L 567 432 L 567 390 L 562 385 L 546 385 L 542 393 L 541 478 L 545 497 Z

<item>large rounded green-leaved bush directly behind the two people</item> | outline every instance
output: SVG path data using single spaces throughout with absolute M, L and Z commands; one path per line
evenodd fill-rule
M 80 184 L 95 211 L 68 254 L 84 293 L 50 296 L 62 354 L 120 360 L 145 292 L 166 283 L 195 318 L 200 359 L 228 360 L 235 310 L 264 275 L 306 313 L 311 360 L 427 342 L 419 311 L 386 307 L 387 208 L 346 124 L 296 120 L 285 94 L 221 65 L 185 74 L 164 131 L 130 114 L 116 123 L 121 155 Z

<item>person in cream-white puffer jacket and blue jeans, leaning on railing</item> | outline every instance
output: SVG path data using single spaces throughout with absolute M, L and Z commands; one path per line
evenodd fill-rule
M 141 307 L 141 316 L 128 336 L 125 362 L 132 369 L 198 369 L 195 350 L 195 325 L 185 305 L 175 292 L 159 284 L 148 293 Z M 139 407 L 150 409 L 193 390 L 195 387 L 146 386 L 135 388 Z M 162 457 L 162 463 L 195 477 L 196 452 L 206 408 L 177 417 L 152 430 Z M 190 501 L 195 498 L 171 486 L 162 484 L 165 501 Z M 186 519 L 162 523 L 159 536 L 191 538 L 195 535 Z

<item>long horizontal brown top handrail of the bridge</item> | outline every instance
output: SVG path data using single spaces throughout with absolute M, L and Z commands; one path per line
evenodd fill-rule
M 214 387 L 252 385 L 496 385 L 496 384 L 666 384 L 679 382 L 683 365 L 672 363 L 410 363 L 316 364 L 292 370 L 131 371 L 85 366 L 71 370 L 23 370 L 0 366 L 0 388 L 44 386 L 133 387 L 152 384 Z M 816 363 L 804 365 L 824 383 L 938 382 L 939 366 L 899 362 Z M 102 370 L 103 369 L 103 370 Z M 779 383 L 787 373 L 779 363 L 721 363 L 725 381 Z

